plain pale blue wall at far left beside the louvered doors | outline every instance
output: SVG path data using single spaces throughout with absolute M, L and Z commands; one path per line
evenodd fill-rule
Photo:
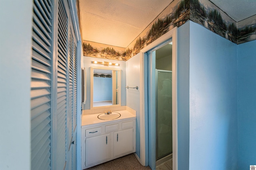
M 0 0 L 0 170 L 31 165 L 32 8 L 32 1 Z

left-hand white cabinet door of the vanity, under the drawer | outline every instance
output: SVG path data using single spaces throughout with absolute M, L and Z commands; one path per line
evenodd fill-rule
M 110 133 L 86 139 L 86 166 L 110 159 Z

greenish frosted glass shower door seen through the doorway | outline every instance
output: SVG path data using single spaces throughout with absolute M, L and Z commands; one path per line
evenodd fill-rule
M 156 160 L 172 153 L 172 71 L 156 69 Z

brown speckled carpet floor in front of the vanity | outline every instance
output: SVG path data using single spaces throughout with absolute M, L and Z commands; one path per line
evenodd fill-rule
M 142 166 L 134 154 L 110 160 L 103 164 L 87 168 L 86 170 L 151 170 L 149 166 Z

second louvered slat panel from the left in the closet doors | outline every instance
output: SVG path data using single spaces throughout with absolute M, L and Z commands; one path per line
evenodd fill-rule
M 67 39 L 68 18 L 62 0 L 58 2 L 58 63 L 57 63 L 57 149 L 56 167 L 63 169 L 66 164 L 67 124 Z

